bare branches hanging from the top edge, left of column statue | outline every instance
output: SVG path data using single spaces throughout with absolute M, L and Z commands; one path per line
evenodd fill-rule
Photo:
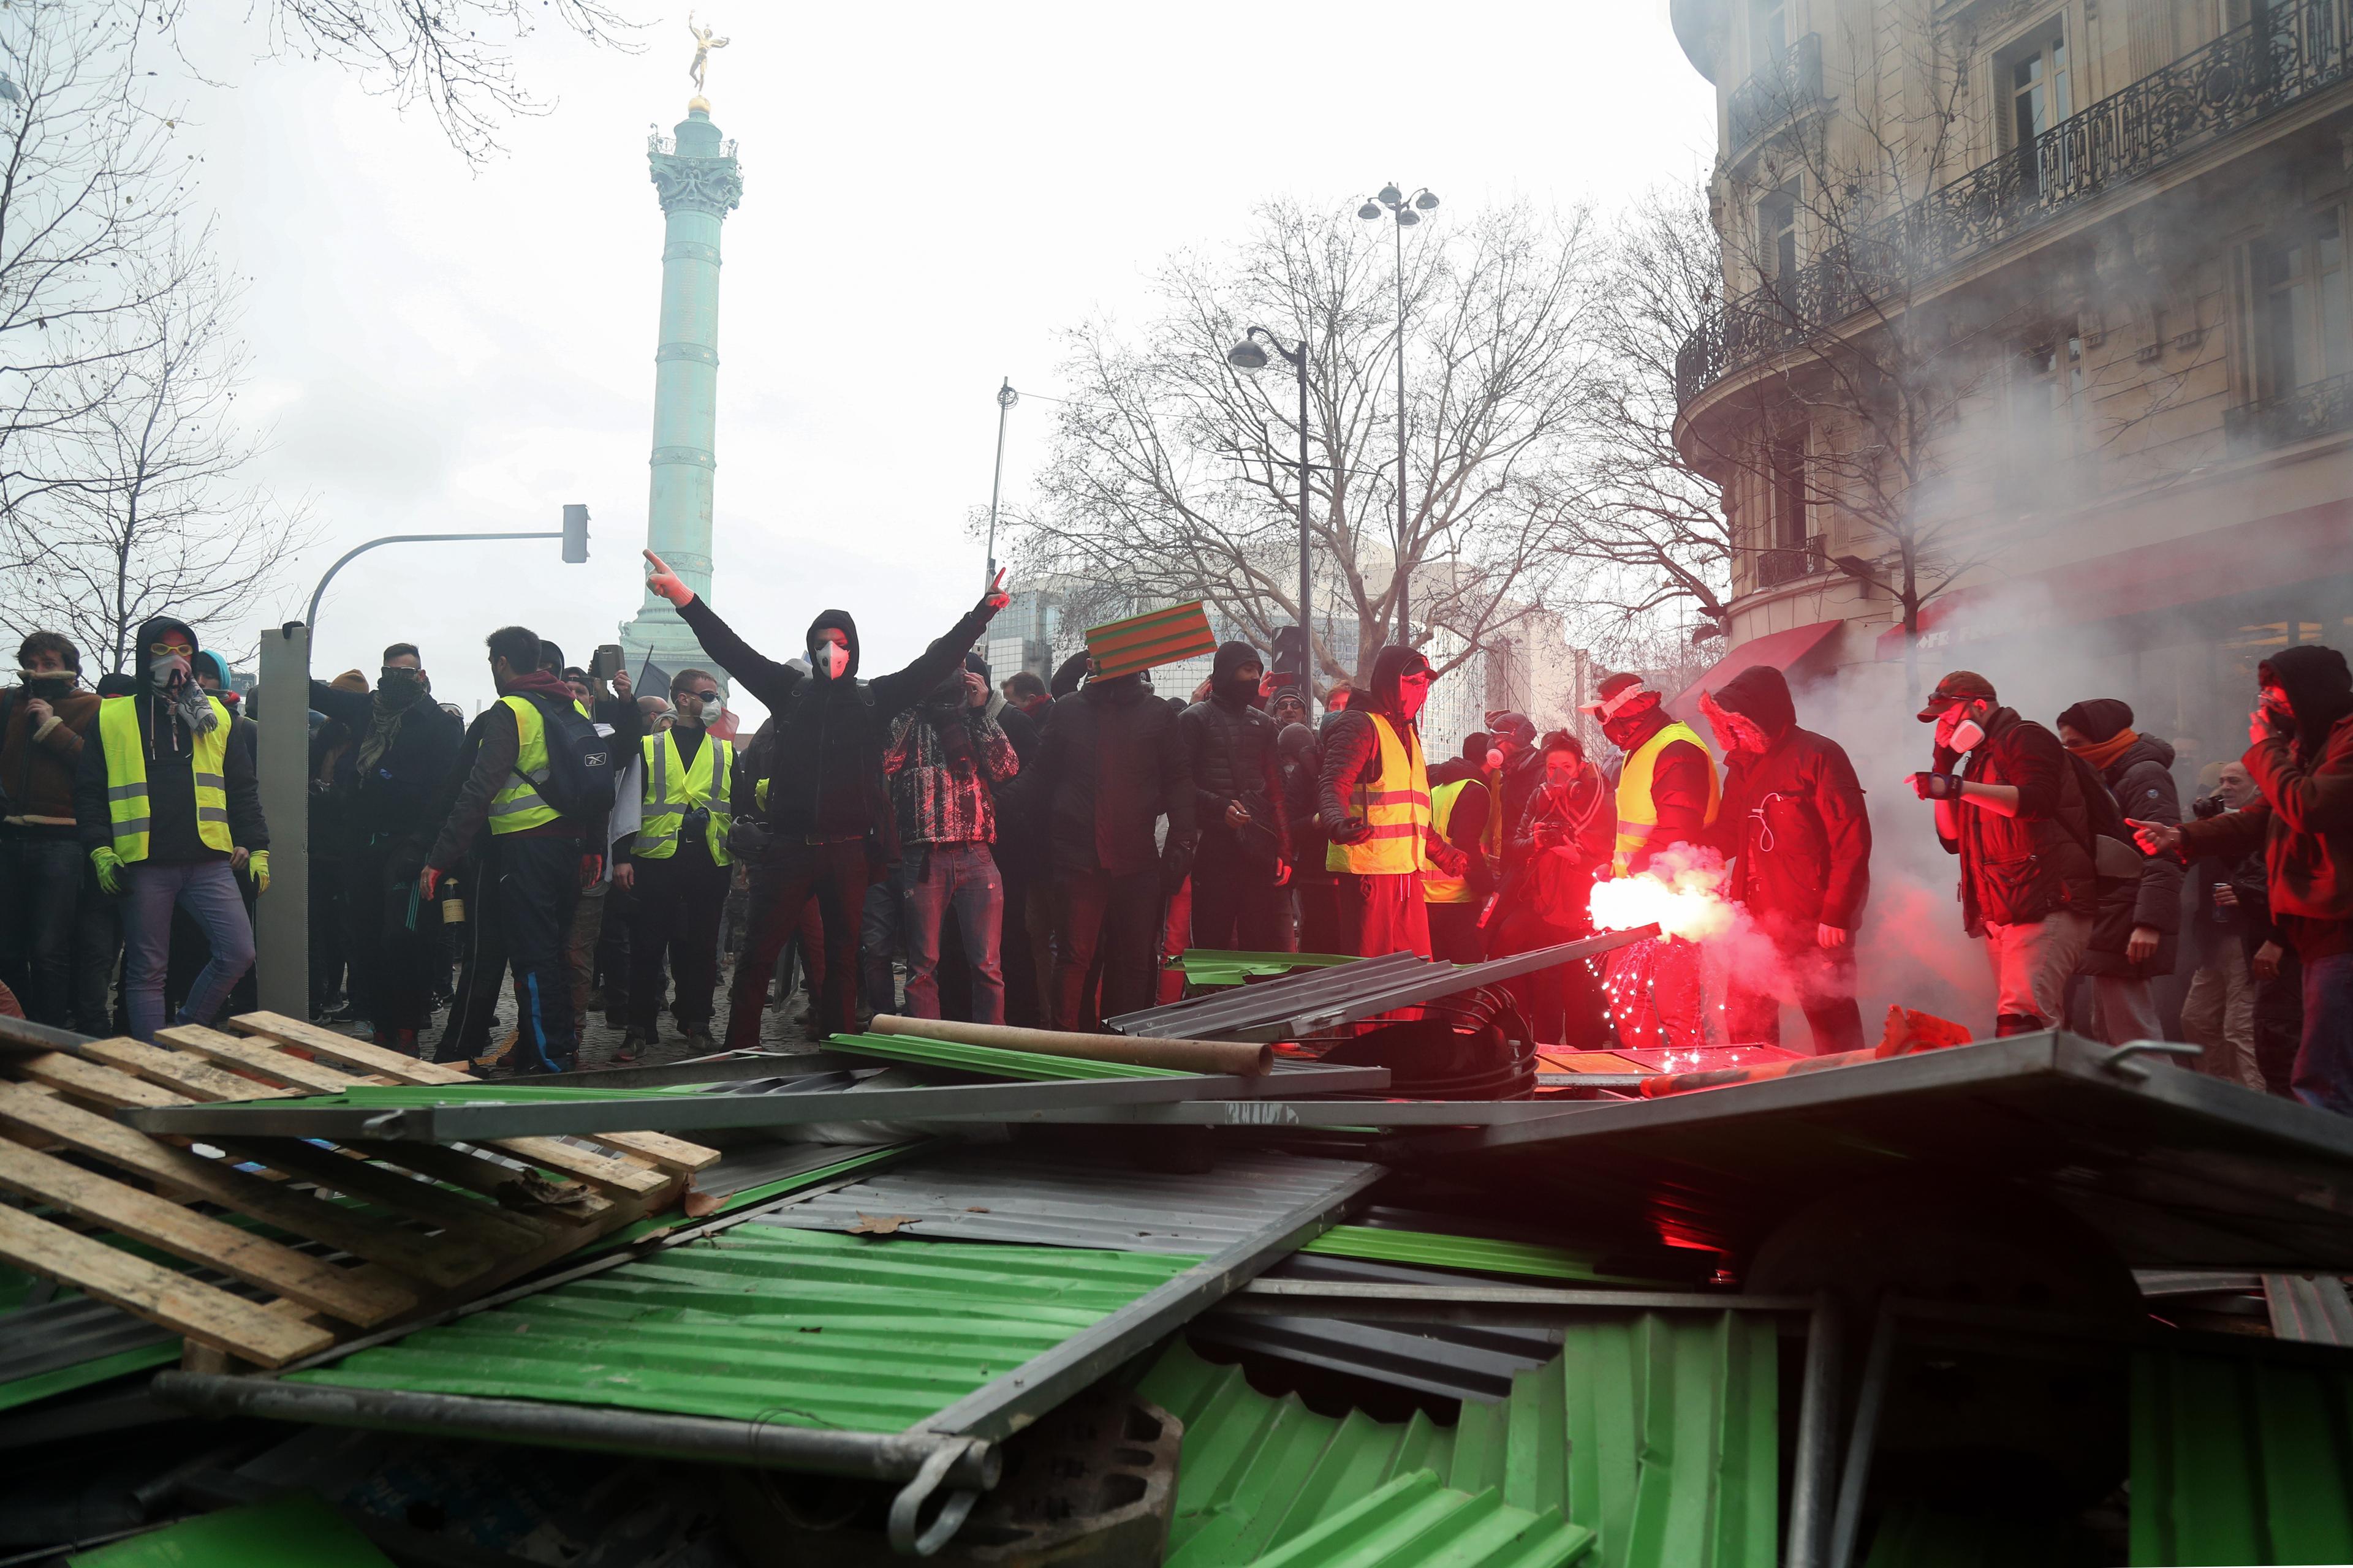
M 158 31 L 191 14 L 191 0 L 139 7 Z M 249 0 L 247 16 L 266 28 L 273 54 L 334 61 L 402 110 L 424 103 L 473 167 L 504 150 L 506 120 L 551 108 L 515 75 L 515 45 L 544 19 L 591 45 L 642 47 L 640 24 L 605 0 Z

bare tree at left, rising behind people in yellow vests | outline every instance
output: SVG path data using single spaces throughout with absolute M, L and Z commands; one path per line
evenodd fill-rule
M 136 668 L 148 616 L 242 618 L 311 543 L 306 517 L 238 477 L 256 447 L 235 421 L 233 294 L 200 263 L 158 270 L 172 287 L 111 322 L 115 353 L 73 369 L 85 411 L 52 444 L 80 477 L 40 498 L 0 578 L 12 635 L 64 628 L 106 670 Z

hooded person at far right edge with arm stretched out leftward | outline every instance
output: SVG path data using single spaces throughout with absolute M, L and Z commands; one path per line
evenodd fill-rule
M 2264 792 L 2202 823 L 2134 820 L 2148 853 L 2264 849 L 2271 924 L 2304 966 L 2294 1091 L 2353 1114 L 2353 672 L 2337 649 L 2280 649 L 2257 668 L 2242 762 Z

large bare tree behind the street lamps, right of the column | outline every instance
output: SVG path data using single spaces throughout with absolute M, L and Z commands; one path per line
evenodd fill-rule
M 1433 223 L 1405 247 L 1402 536 L 1388 244 L 1348 214 L 1278 205 L 1233 256 L 1174 256 L 1144 334 L 1068 334 L 1071 402 L 1042 501 L 1019 517 L 1026 569 L 1207 599 L 1261 639 L 1313 625 L 1332 677 L 1360 675 L 1391 628 L 1461 663 L 1560 564 L 1546 496 L 1593 383 L 1586 252 L 1581 212 L 1527 209 Z M 1297 397 L 1280 360 L 1264 376 L 1226 362 L 1249 327 L 1306 353 L 1313 616 L 1297 602 Z M 1414 621 L 1398 625 L 1407 588 Z M 1351 621 L 1355 668 L 1327 635 Z

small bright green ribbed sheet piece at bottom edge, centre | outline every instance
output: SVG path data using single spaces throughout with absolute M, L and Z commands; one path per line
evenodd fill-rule
M 1259 1559 L 1261 1568 L 1565 1568 L 1593 1530 L 1529 1514 L 1497 1488 L 1478 1495 L 1417 1469 Z

